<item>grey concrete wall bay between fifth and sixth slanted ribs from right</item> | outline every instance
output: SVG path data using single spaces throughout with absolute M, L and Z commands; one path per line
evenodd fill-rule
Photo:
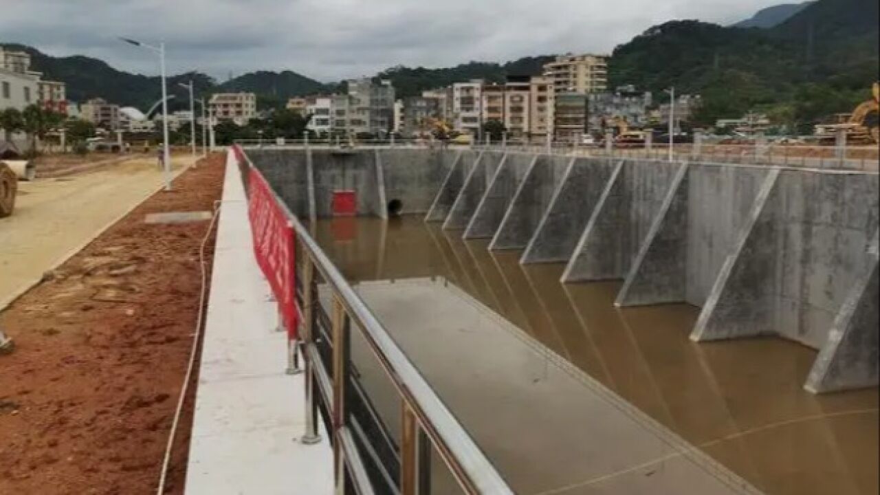
M 528 245 L 571 161 L 556 155 L 540 155 L 534 161 L 510 201 L 489 249 L 522 249 Z

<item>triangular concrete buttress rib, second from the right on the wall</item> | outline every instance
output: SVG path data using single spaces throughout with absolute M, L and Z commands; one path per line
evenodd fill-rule
M 724 261 L 700 311 L 691 340 L 774 333 L 774 287 L 764 283 L 764 279 L 775 271 L 774 216 L 779 177 L 780 169 L 774 168 L 761 184 L 737 244 Z

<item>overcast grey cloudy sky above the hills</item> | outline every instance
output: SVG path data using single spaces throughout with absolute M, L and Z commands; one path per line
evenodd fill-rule
M 609 53 L 673 18 L 730 24 L 781 0 L 0 0 L 0 41 L 158 73 L 116 36 L 164 38 L 170 73 L 225 80 L 295 70 L 321 81 L 393 65 Z

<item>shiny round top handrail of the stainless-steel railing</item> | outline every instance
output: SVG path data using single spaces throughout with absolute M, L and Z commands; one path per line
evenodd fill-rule
M 248 166 L 253 167 L 250 158 L 245 155 Z M 311 233 L 294 215 L 287 204 L 272 190 L 275 201 L 282 207 L 290 219 L 297 240 L 309 251 L 315 268 L 320 272 L 326 284 L 329 284 L 338 295 L 341 304 L 348 310 L 349 316 L 363 331 L 370 342 L 376 358 L 385 365 L 393 376 L 392 381 L 403 399 L 409 403 L 414 412 L 422 419 L 422 427 L 432 440 L 439 440 L 437 447 L 444 447 L 440 454 L 450 466 L 452 474 L 466 484 L 470 484 L 477 493 L 505 494 L 513 493 L 504 482 L 495 466 L 488 461 L 480 447 L 467 434 L 458 419 L 446 407 L 443 401 L 430 388 L 422 373 L 415 368 L 400 347 L 388 334 L 385 327 L 363 303 L 355 290 L 324 253 L 318 242 L 312 239 Z M 457 472 L 458 471 L 458 472 Z M 461 476 L 466 479 L 461 479 Z

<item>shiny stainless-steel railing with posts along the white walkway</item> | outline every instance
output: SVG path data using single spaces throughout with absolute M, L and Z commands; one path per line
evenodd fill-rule
M 253 166 L 249 159 L 245 162 L 239 165 Z M 301 441 L 319 442 L 318 418 L 322 414 L 333 445 L 336 493 L 426 495 L 430 490 L 432 452 L 439 454 L 464 493 L 513 493 L 312 238 L 312 233 L 276 194 L 275 201 L 290 218 L 296 233 L 295 287 L 303 316 L 306 404 L 306 428 Z M 319 286 L 325 294 L 323 298 L 319 297 Z M 389 447 L 394 446 L 388 435 L 385 440 L 377 440 L 377 436 L 383 436 L 381 430 L 386 425 L 375 425 L 380 422 L 378 415 L 356 378 L 358 373 L 351 358 L 353 329 L 363 336 L 400 397 L 402 421 L 400 447 L 396 449 L 399 466 L 382 465 L 395 461 L 388 454 Z M 396 473 L 398 479 L 385 483 L 391 478 L 390 473 Z

